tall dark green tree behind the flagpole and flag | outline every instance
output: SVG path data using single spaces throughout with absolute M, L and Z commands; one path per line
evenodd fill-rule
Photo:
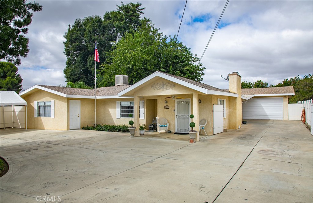
M 92 87 L 95 84 L 95 41 L 100 55 L 100 63 L 105 62 L 106 53 L 111 50 L 126 33 L 134 33 L 141 25 L 144 8 L 140 3 L 117 6 L 116 11 L 100 16 L 76 19 L 69 25 L 64 38 L 64 53 L 67 57 L 64 74 L 66 82 L 82 81 Z M 97 63 L 97 69 L 99 63 Z

